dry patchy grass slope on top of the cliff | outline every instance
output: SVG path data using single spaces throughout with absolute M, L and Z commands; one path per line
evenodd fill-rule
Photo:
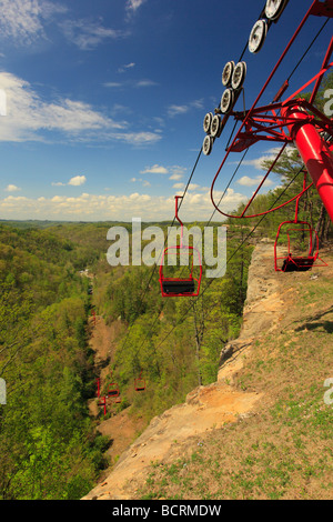
M 253 415 L 193 438 L 186 456 L 154 468 L 138 498 L 333 499 L 333 405 L 324 402 L 324 381 L 333 378 L 333 283 L 325 270 L 315 280 L 282 280 L 287 313 L 274 335 L 253 342 L 236 378 L 239 389 L 264 394 Z

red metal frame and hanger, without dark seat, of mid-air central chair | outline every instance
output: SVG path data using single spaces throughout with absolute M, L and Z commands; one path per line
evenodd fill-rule
M 160 264 L 160 285 L 161 285 L 161 293 L 163 298 L 172 298 L 172 297 L 196 297 L 199 295 L 200 292 L 200 284 L 201 284 L 201 278 L 202 278 L 202 263 L 201 263 L 201 255 L 198 249 L 194 247 L 188 247 L 183 245 L 183 223 L 178 217 L 178 200 L 181 199 L 181 195 L 175 195 L 175 219 L 180 222 L 181 224 L 181 239 L 180 239 L 180 244 L 176 247 L 168 247 L 164 249 L 162 258 L 161 258 L 161 264 Z M 183 252 L 182 252 L 183 251 Z M 191 264 L 191 270 L 190 270 L 190 275 L 188 278 L 165 278 L 163 273 L 163 265 L 164 265 L 164 259 L 165 255 L 170 254 L 176 254 L 179 253 L 180 255 L 183 253 L 184 255 L 189 255 L 189 252 L 192 254 L 192 264 Z M 199 260 L 199 277 L 194 278 L 193 277 L 193 254 L 196 252 L 198 254 L 198 260 Z M 179 282 L 196 282 L 196 290 L 194 292 L 169 292 L 167 293 L 163 289 L 163 282 L 164 281 L 179 281 Z

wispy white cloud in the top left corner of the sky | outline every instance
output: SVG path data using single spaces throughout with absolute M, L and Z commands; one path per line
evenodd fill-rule
M 43 22 L 68 8 L 48 0 L 0 0 L 0 29 L 4 38 L 27 46 L 38 38 L 46 38 Z

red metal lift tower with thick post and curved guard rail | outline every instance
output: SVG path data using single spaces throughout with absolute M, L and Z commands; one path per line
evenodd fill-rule
M 330 120 L 329 118 L 326 118 L 325 114 L 320 112 L 313 106 L 313 101 L 320 88 L 323 74 L 333 66 L 333 62 L 330 63 L 330 58 L 333 52 L 333 38 L 331 39 L 331 42 L 327 47 L 321 70 L 317 74 L 315 74 L 310 81 L 307 81 L 304 86 L 302 86 L 302 88 L 297 89 L 297 91 L 294 92 L 291 97 L 289 97 L 284 102 L 281 102 L 278 100 L 280 100 L 280 98 L 283 96 L 286 88 L 289 87 L 287 81 L 285 81 L 282 84 L 279 93 L 275 96 L 273 103 L 265 106 L 265 107 L 256 107 L 268 84 L 270 83 L 271 79 L 275 74 L 282 60 L 284 59 L 285 54 L 290 50 L 291 46 L 295 41 L 296 37 L 299 36 L 301 29 L 304 27 L 310 16 L 333 18 L 333 0 L 326 0 L 324 2 L 314 0 L 312 2 L 302 22 L 300 23 L 292 39 L 290 40 L 286 48 L 284 49 L 282 56 L 276 62 L 273 71 L 269 76 L 265 84 L 260 91 L 252 108 L 249 111 L 245 111 L 245 113 L 244 112 L 232 113 L 234 118 L 241 121 L 242 123 L 231 145 L 226 149 L 224 159 L 213 179 L 212 187 L 211 187 L 211 201 L 214 208 L 216 209 L 216 211 L 226 218 L 254 218 L 258 215 L 263 215 L 269 212 L 273 212 L 285 204 L 289 204 L 291 201 L 295 200 L 297 197 L 302 195 L 304 191 L 311 187 L 310 184 L 305 190 L 303 190 L 303 192 L 300 192 L 300 194 L 295 195 L 294 198 L 283 203 L 282 205 L 279 205 L 274 209 L 271 209 L 266 212 L 262 212 L 259 214 L 245 215 L 245 211 L 248 210 L 251 202 L 258 194 L 266 177 L 270 174 L 270 172 L 274 168 L 285 145 L 290 142 L 294 142 L 312 178 L 312 181 L 314 185 L 316 187 L 319 194 L 333 221 L 333 159 L 332 159 L 332 153 L 331 153 L 331 149 L 333 149 L 333 147 L 330 148 L 319 134 L 322 131 L 326 131 L 330 134 L 333 134 L 333 120 Z M 306 102 L 303 99 L 295 100 L 295 97 L 300 94 L 300 92 L 304 91 L 304 89 L 313 82 L 315 82 L 315 84 L 312 90 L 310 101 Z M 289 133 L 285 133 L 284 131 L 285 128 L 287 128 Z M 280 152 L 279 157 L 274 161 L 269 172 L 265 174 L 263 181 L 260 183 L 259 188 L 256 189 L 255 193 L 251 198 L 250 202 L 246 204 L 242 214 L 241 215 L 228 214 L 226 212 L 223 212 L 221 209 L 219 209 L 218 204 L 214 202 L 213 192 L 214 192 L 214 185 L 215 185 L 216 179 L 222 170 L 222 167 L 225 164 L 230 152 L 241 152 L 244 149 L 248 149 L 249 147 L 253 145 L 254 143 L 259 141 L 266 141 L 266 142 L 274 142 L 274 143 L 282 142 L 283 143 L 282 151 Z

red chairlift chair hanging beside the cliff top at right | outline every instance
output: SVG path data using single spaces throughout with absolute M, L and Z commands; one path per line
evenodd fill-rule
M 303 182 L 303 190 L 306 184 L 306 174 L 304 174 L 304 182 Z M 305 272 L 311 270 L 313 267 L 327 267 L 320 257 L 319 257 L 319 237 L 315 230 L 312 229 L 311 224 L 307 221 L 299 221 L 297 212 L 299 212 L 299 202 L 301 195 L 296 199 L 296 208 L 295 208 L 295 218 L 293 221 L 283 221 L 278 229 L 275 242 L 274 242 L 274 267 L 275 272 Z M 293 225 L 287 227 L 285 225 Z M 301 225 L 301 227 L 297 227 Z M 285 229 L 287 235 L 287 254 L 286 255 L 278 255 L 278 242 L 281 231 Z M 303 238 L 309 238 L 309 251 L 306 255 L 293 255 L 291 252 L 291 233 L 296 232 L 301 233 Z M 281 265 L 281 261 L 283 261 Z M 278 265 L 280 264 L 280 265 Z

